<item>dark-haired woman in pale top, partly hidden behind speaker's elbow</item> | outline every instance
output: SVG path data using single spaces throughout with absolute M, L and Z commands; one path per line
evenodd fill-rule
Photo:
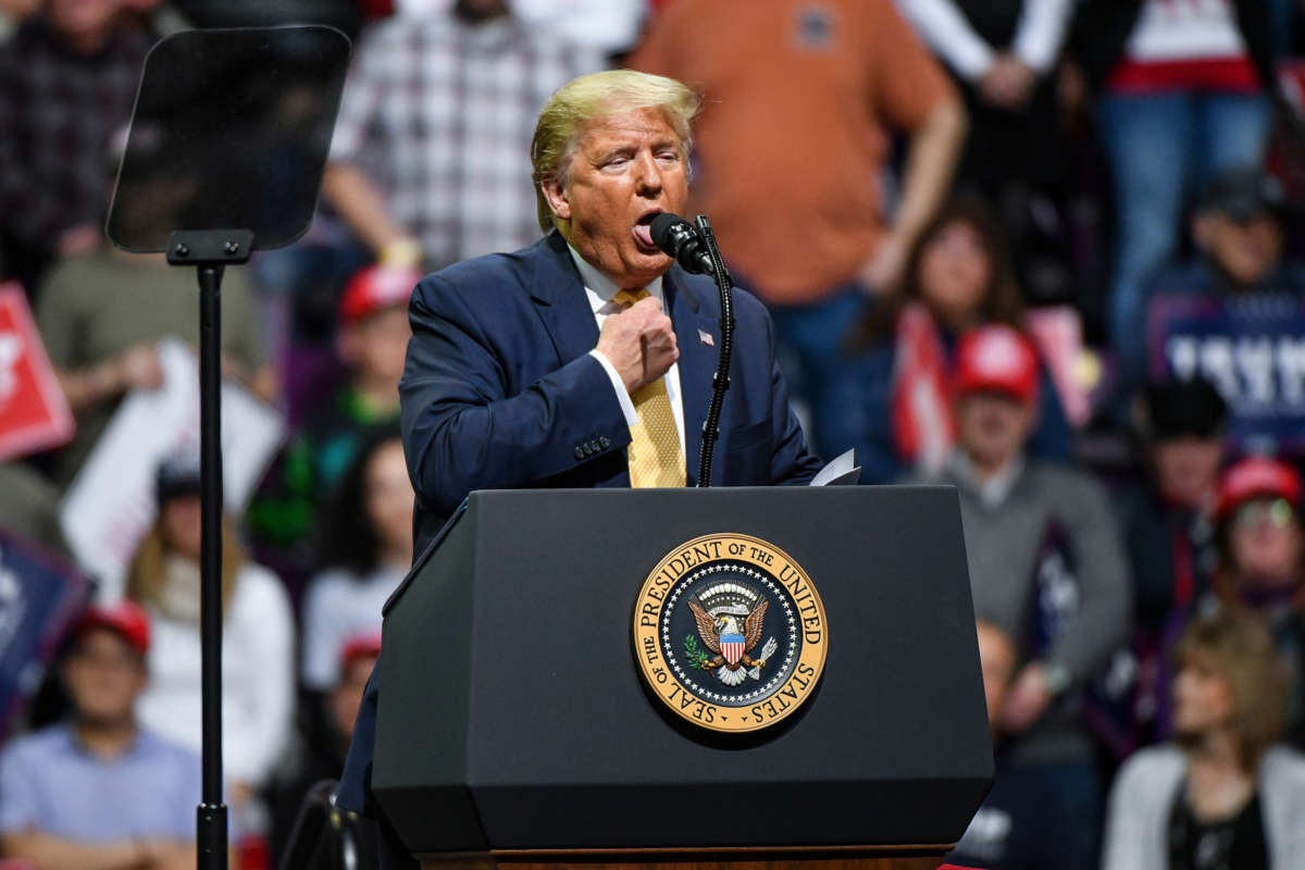
M 321 537 L 326 566 L 304 600 L 304 685 L 328 691 L 339 681 L 339 650 L 378 631 L 381 607 L 412 563 L 412 484 L 398 425 L 364 438 L 341 477 Z

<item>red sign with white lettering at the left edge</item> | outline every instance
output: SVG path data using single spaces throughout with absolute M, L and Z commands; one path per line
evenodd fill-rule
M 73 415 L 59 389 L 22 287 L 0 284 L 0 462 L 57 447 L 73 437 Z

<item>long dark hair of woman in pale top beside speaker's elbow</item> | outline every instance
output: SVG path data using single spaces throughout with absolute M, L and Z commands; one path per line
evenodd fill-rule
M 368 574 L 376 567 L 381 539 L 367 511 L 367 468 L 381 447 L 401 438 L 398 423 L 373 427 L 363 436 L 322 517 L 317 547 L 322 567 L 345 567 L 355 574 Z

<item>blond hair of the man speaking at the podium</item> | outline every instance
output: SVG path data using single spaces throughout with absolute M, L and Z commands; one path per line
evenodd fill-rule
M 555 226 L 552 209 L 540 185 L 544 181 L 565 184 L 566 168 L 591 121 L 641 108 L 662 110 L 680 137 L 680 149 L 688 160 L 693 145 L 689 127 L 701 104 L 702 99 L 686 85 L 633 69 L 591 73 L 559 87 L 539 113 L 535 136 L 530 141 L 539 228 L 548 232 Z

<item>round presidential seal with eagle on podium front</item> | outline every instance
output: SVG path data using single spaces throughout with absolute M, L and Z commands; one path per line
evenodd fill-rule
M 816 690 L 829 644 L 810 577 L 778 547 L 705 535 L 658 563 L 634 604 L 634 657 L 652 694 L 716 732 L 791 716 Z

